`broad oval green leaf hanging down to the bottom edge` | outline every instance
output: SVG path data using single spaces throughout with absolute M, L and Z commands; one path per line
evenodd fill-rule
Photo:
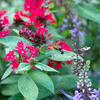
M 18 80 L 18 88 L 27 100 L 36 100 L 38 88 L 30 77 L 25 75 L 21 76 Z

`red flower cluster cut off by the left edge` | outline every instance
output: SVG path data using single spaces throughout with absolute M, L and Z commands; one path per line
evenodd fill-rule
M 5 15 L 6 13 L 7 11 L 0 10 L 0 37 L 2 38 L 8 36 L 11 32 L 9 17 Z M 4 29 L 5 27 L 7 27 L 7 29 Z

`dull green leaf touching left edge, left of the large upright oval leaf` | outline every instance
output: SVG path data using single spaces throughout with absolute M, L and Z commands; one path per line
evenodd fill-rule
M 3 81 L 0 82 L 0 84 L 12 84 L 12 83 L 16 83 L 18 81 L 20 76 L 18 75 L 14 75 L 14 76 L 10 76 L 6 79 L 4 79 Z

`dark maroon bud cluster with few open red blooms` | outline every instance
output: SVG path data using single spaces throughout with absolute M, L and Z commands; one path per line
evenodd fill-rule
M 51 33 L 46 35 L 47 32 L 48 29 L 44 28 L 43 26 L 39 27 L 36 33 L 32 32 L 31 30 L 28 30 L 26 27 L 24 28 L 23 26 L 22 26 L 22 30 L 19 30 L 20 36 L 29 39 L 33 44 L 39 46 L 47 43 L 49 39 L 53 38 L 52 36 L 49 37 Z

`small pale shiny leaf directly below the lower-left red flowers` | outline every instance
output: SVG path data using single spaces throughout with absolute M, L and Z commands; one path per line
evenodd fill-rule
M 23 72 L 23 71 L 28 71 L 30 70 L 31 66 L 28 65 L 27 63 L 20 63 L 17 69 L 15 69 L 15 73 Z

